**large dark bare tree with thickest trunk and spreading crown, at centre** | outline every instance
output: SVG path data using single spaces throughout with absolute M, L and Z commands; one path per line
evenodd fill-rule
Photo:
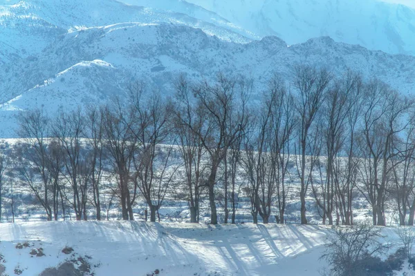
M 241 82 L 248 85 L 240 86 Z M 218 223 L 214 189 L 216 175 L 228 149 L 246 127 L 246 99 L 251 90 L 250 81 L 237 81 L 219 74 L 214 85 L 204 82 L 194 87 L 196 106 L 186 108 L 193 110 L 195 116 L 201 118 L 201 126 L 195 128 L 193 124 L 188 124 L 188 121 L 181 121 L 181 124 L 199 136 L 210 157 L 210 172 L 206 185 L 209 192 L 211 224 Z M 192 103 L 189 101 L 184 104 Z

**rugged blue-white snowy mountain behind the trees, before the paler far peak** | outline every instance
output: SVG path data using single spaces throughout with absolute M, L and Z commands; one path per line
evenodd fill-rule
M 171 95 L 181 73 L 194 81 L 212 79 L 219 71 L 241 73 L 255 80 L 258 94 L 275 72 L 290 79 L 293 66 L 310 64 L 335 75 L 351 68 L 401 92 L 415 90 L 415 57 L 410 55 L 367 50 L 330 37 L 291 46 L 278 37 L 258 40 L 205 8 L 176 0 L 0 0 L 0 124 L 7 126 L 0 136 L 15 136 L 19 110 L 43 108 L 53 115 L 107 103 L 124 97 L 136 80 Z

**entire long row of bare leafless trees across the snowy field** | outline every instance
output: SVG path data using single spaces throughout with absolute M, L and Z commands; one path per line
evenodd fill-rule
M 122 219 L 134 219 L 142 199 L 155 221 L 166 197 L 178 196 L 192 222 L 199 222 L 206 197 L 212 224 L 217 208 L 223 222 L 235 223 L 243 195 L 255 223 L 258 215 L 284 223 L 291 193 L 302 224 L 310 201 L 323 224 L 353 224 L 359 196 L 374 224 L 385 225 L 387 210 L 396 210 L 400 224 L 414 224 L 410 97 L 354 72 L 335 78 L 307 66 L 288 79 L 274 75 L 264 88 L 219 74 L 198 83 L 181 76 L 175 89 L 165 99 L 138 82 L 128 101 L 55 118 L 42 110 L 21 115 L 24 141 L 14 169 L 48 220 L 65 212 L 87 219 L 88 206 L 99 220 L 102 198 L 110 195 Z

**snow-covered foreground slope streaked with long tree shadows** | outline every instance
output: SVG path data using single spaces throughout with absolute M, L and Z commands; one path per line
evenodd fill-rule
M 320 226 L 146 224 L 140 221 L 56 221 L 0 224 L 6 273 L 38 275 L 71 255 L 91 256 L 98 276 L 319 275 L 328 230 Z M 30 247 L 17 249 L 18 243 Z M 45 256 L 30 257 L 42 247 Z M 301 262 L 302 266 L 298 266 Z

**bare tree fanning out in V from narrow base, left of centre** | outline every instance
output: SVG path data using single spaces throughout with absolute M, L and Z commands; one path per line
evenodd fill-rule
M 172 159 L 174 135 L 169 125 L 172 106 L 156 94 L 145 101 L 143 91 L 140 88 L 133 95 L 131 126 L 138 141 L 133 181 L 149 206 L 150 221 L 156 221 L 156 212 L 163 204 L 178 166 Z M 164 143 L 167 145 L 162 146 Z

